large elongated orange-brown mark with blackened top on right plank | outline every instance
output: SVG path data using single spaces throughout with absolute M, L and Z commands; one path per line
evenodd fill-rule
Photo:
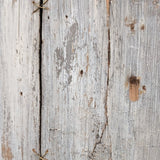
M 129 79 L 129 84 L 129 99 L 135 102 L 139 99 L 140 79 L 136 76 L 131 76 Z

